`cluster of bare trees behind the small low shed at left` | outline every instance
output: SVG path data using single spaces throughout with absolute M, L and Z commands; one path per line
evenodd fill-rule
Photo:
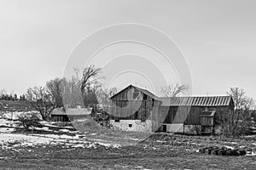
M 95 65 L 85 67 L 82 72 L 74 69 L 72 77 L 56 77 L 46 82 L 45 86 L 28 88 L 26 100 L 47 120 L 55 108 L 91 107 L 107 100 L 117 90 L 103 89 L 102 78 L 102 70 Z

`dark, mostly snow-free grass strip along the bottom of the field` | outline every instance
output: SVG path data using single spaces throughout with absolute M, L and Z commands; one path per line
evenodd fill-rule
M 255 169 L 256 166 L 255 156 L 208 156 L 193 148 L 147 144 L 121 148 L 44 145 L 0 153 L 0 165 L 6 169 Z

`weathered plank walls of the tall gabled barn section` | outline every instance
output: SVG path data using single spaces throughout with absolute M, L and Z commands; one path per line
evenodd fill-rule
M 113 96 L 112 107 L 109 109 L 110 120 L 139 120 L 142 123 L 150 120 L 155 131 L 160 126 L 160 104 L 160 101 L 143 94 L 137 88 L 126 88 Z

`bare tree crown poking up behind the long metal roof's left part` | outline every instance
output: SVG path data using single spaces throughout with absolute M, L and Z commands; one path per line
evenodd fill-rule
M 189 91 L 189 85 L 178 84 L 175 85 L 168 84 L 166 87 L 161 88 L 161 93 L 166 97 L 177 97 L 179 94 L 185 94 Z

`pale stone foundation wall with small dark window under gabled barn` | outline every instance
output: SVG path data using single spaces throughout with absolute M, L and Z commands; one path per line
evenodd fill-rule
M 110 120 L 110 125 L 115 129 L 124 131 L 152 132 L 151 120 L 146 120 L 146 122 L 141 122 L 141 120 L 119 120 L 119 122 L 115 122 L 114 120 Z

